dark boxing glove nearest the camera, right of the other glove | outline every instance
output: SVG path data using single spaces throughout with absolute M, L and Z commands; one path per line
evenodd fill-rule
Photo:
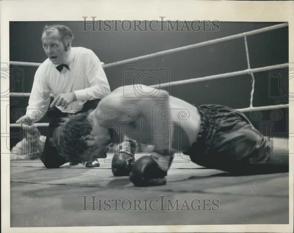
M 167 172 L 163 171 L 151 156 L 143 156 L 132 164 L 130 180 L 136 186 L 155 186 L 166 184 Z

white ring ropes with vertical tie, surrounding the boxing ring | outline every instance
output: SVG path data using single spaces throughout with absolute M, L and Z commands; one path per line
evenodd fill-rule
M 191 44 L 191 45 L 187 45 L 187 46 L 181 46 L 181 47 L 178 47 L 178 48 L 159 51 L 159 52 L 152 53 L 152 54 L 146 54 L 146 55 L 143 55 L 143 56 L 138 56 L 138 57 L 134 57 L 134 58 L 130 58 L 130 59 L 125 59 L 125 60 L 121 60 L 121 61 L 115 61 L 115 62 L 108 63 L 108 64 L 102 64 L 102 67 L 103 68 L 108 68 L 108 67 L 112 67 L 112 66 L 126 64 L 128 62 L 139 61 L 139 60 L 142 60 L 142 59 L 148 59 L 148 58 L 151 58 L 151 57 L 162 56 L 162 55 L 165 55 L 165 54 L 175 53 L 175 52 L 184 51 L 184 50 L 188 50 L 188 49 L 194 49 L 194 48 L 198 48 L 198 47 L 201 47 L 201 46 L 206 46 L 206 45 L 210 45 L 210 44 L 216 44 L 216 43 L 219 43 L 219 42 L 222 42 L 222 41 L 228 41 L 228 40 L 231 40 L 231 39 L 237 39 L 237 38 L 240 38 L 240 37 L 244 37 L 248 69 L 241 70 L 241 71 L 228 72 L 228 73 L 224 73 L 224 74 L 216 74 L 216 75 L 210 75 L 210 76 L 205 76 L 205 77 L 199 77 L 199 78 L 172 81 L 172 82 L 169 82 L 169 83 L 160 84 L 160 87 L 175 86 L 175 85 L 181 85 L 181 84 L 190 84 L 190 83 L 196 83 L 196 82 L 200 82 L 200 81 L 207 81 L 207 80 L 212 80 L 212 79 L 220 79 L 220 78 L 226 78 L 226 77 L 231 77 L 231 76 L 250 74 L 251 77 L 252 77 L 252 90 L 251 90 L 251 94 L 250 94 L 250 107 L 243 108 L 243 109 L 237 109 L 237 110 L 239 110 L 241 112 L 246 112 L 246 111 L 252 111 L 252 110 L 255 110 L 255 109 L 264 109 L 264 110 L 266 110 L 266 109 L 285 108 L 285 107 L 288 107 L 289 104 L 253 107 L 252 103 L 253 103 L 254 84 L 255 84 L 255 79 L 254 79 L 253 73 L 273 69 L 273 66 L 264 66 L 264 67 L 254 68 L 254 69 L 250 68 L 249 52 L 248 52 L 248 45 L 247 45 L 246 36 L 258 34 L 258 33 L 265 32 L 265 31 L 270 31 L 270 30 L 273 30 L 273 29 L 278 29 L 278 28 L 282 28 L 282 27 L 286 27 L 286 26 L 288 26 L 288 23 L 277 24 L 277 25 L 273 25 L 273 26 L 269 26 L 269 27 L 256 29 L 256 30 L 253 30 L 253 31 L 247 31 L 247 32 L 243 32 L 243 33 L 239 33 L 239 34 L 235 34 L 235 35 L 231 35 L 231 36 L 225 36 L 225 37 L 218 38 L 218 39 L 213 39 L 213 40 L 209 40 L 209 41 L 203 41 L 203 42 L 196 43 L 196 44 Z M 22 62 L 22 61 L 10 61 L 9 64 L 10 65 L 20 65 L 20 66 L 40 66 L 41 65 L 41 63 Z M 279 64 L 279 65 L 276 65 L 276 66 L 280 66 L 280 67 L 284 66 L 284 68 L 286 68 L 286 67 L 288 67 L 288 64 L 285 63 L 285 64 Z M 157 85 L 152 85 L 152 87 L 156 87 L 156 86 Z M 15 93 L 10 93 L 10 96 L 11 97 L 29 97 L 30 94 L 31 93 L 15 92 Z M 52 94 L 50 94 L 50 96 L 53 97 Z M 38 126 L 38 127 L 48 127 L 49 123 L 34 123 L 34 125 Z M 20 126 L 21 126 L 21 124 L 15 124 L 15 123 L 10 124 L 10 127 L 20 127 Z

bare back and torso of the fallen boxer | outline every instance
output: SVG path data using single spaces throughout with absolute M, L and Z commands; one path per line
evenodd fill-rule
M 140 88 L 144 93 L 154 90 L 143 85 Z M 108 117 L 109 112 L 116 114 L 115 119 Z M 138 138 L 142 138 L 141 142 L 152 144 L 157 150 L 188 150 L 195 142 L 200 128 L 200 115 L 195 106 L 169 96 L 163 90 L 158 96 L 136 96 L 132 85 L 119 87 L 101 100 L 93 112 L 96 119 L 92 136 L 101 133 L 100 127 L 111 129 L 115 122 L 126 122 L 126 112 L 131 114 L 127 121 L 128 138 L 137 142 Z M 175 135 L 179 129 L 180 136 Z

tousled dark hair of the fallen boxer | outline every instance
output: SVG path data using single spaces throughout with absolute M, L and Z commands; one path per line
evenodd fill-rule
M 70 162 L 88 161 L 88 156 L 95 148 L 89 147 L 82 138 L 90 134 L 93 121 L 88 119 L 89 111 L 62 119 L 54 130 L 52 144 L 59 154 Z

